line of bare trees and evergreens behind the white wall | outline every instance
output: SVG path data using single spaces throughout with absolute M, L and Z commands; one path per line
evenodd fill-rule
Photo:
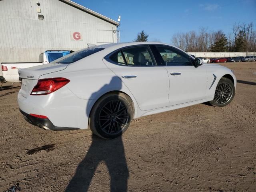
M 172 44 L 187 52 L 255 52 L 256 31 L 252 22 L 235 23 L 228 34 L 202 27 L 198 32 L 174 34 Z

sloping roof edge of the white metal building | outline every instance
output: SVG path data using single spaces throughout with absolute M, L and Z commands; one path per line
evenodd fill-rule
M 109 22 L 109 23 L 111 23 L 111 24 L 114 24 L 114 25 L 116 25 L 116 26 L 119 26 L 119 25 L 120 25 L 120 23 L 118 23 L 117 21 L 112 20 L 112 19 L 110 19 L 110 18 L 108 18 L 108 17 L 106 17 L 106 16 L 104 16 L 104 15 L 102 15 L 102 14 L 99 14 L 99 13 L 93 11 L 93 10 L 90 10 L 90 9 L 88 9 L 88 8 L 86 8 L 86 7 L 84 7 L 84 6 L 80 5 L 80 4 L 77 4 L 77 3 L 75 3 L 75 2 L 72 2 L 72 1 L 70 1 L 70 0 L 59 0 L 59 1 L 62 1 L 62 2 L 68 4 L 68 5 L 72 6 L 72 7 L 75 7 L 75 8 L 77 8 L 77 9 L 80 9 L 80 10 L 82 10 L 82 11 L 88 13 L 88 14 L 91 14 L 91 15 L 93 15 L 93 16 L 96 16 L 96 17 L 98 17 L 98 18 L 100 18 L 100 19 L 102 19 L 102 20 L 105 20 L 106 22 Z

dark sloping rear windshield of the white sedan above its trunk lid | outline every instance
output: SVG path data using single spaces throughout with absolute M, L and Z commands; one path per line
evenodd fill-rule
M 70 53 L 67 56 L 64 56 L 62 58 L 59 58 L 52 63 L 65 63 L 65 64 L 73 63 L 91 54 L 99 52 L 101 50 L 104 50 L 104 48 L 98 48 L 98 47 L 85 48 L 85 49 Z

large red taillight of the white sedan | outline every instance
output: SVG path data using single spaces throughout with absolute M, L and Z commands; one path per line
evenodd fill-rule
M 40 79 L 30 95 L 50 94 L 59 88 L 62 88 L 64 85 L 68 84 L 68 82 L 70 82 L 70 80 L 63 77 Z

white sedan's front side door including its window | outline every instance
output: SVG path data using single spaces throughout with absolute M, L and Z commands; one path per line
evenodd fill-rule
M 197 68 L 191 58 L 182 51 L 170 47 L 152 46 L 158 65 L 168 71 L 170 105 L 177 105 L 206 97 L 207 73 L 204 65 Z

